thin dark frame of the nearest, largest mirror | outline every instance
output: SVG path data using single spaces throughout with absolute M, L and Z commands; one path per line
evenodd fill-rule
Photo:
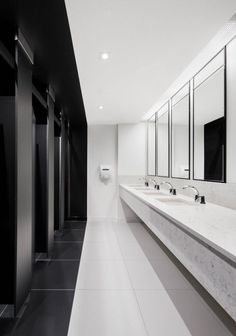
M 195 105 L 194 105 L 194 78 L 203 70 L 205 69 L 221 52 L 224 52 L 224 64 L 222 65 L 222 68 L 224 68 L 224 119 L 225 119 L 225 123 L 224 123 L 224 165 L 223 165 L 223 179 L 222 180 L 202 180 L 202 179 L 197 179 L 194 177 L 194 116 L 195 116 Z M 212 72 L 209 76 L 207 76 L 202 83 L 204 83 L 206 80 L 208 80 L 211 76 L 213 76 L 217 71 L 219 71 L 221 69 L 218 68 L 217 70 L 215 70 L 214 72 Z M 226 69 L 226 47 L 224 47 L 223 49 L 221 49 L 214 57 L 212 57 L 194 76 L 193 76 L 193 93 L 192 93 L 192 111 L 193 111 L 193 117 L 192 117 L 192 141 L 193 141 L 193 144 L 192 144 L 192 151 L 193 151 L 193 167 L 192 167 L 192 179 L 194 181 L 201 181 L 201 182 L 212 182 L 212 183 L 226 183 L 226 160 L 227 160 L 227 81 L 226 81 L 226 75 L 227 75 L 227 69 Z M 202 84 L 201 83 L 201 84 Z M 200 85 L 201 85 L 200 84 Z

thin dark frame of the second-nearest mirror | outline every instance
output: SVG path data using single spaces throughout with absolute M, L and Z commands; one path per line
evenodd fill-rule
M 173 97 L 175 97 L 185 86 L 188 86 L 188 177 L 178 177 L 173 176 L 173 105 L 172 100 Z M 186 97 L 186 96 L 185 96 Z M 183 98 L 182 98 L 183 99 Z M 181 100 L 180 100 L 181 101 Z M 177 103 L 178 104 L 178 103 Z M 191 85 L 190 81 L 185 83 L 170 99 L 170 134 L 171 134 L 171 140 L 170 140 L 170 147 L 171 147 L 171 178 L 174 179 L 180 179 L 180 180 L 190 180 L 190 172 L 191 172 Z

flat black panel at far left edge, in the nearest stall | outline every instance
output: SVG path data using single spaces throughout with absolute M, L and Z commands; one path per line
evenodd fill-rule
M 15 97 L 0 97 L 0 303 L 14 303 Z

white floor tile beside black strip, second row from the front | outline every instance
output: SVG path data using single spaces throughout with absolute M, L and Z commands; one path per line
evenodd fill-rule
M 78 289 L 131 290 L 124 262 L 119 260 L 82 262 L 76 285 L 76 290 Z

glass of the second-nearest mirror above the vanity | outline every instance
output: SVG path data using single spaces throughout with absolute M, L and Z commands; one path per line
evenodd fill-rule
M 185 85 L 171 100 L 171 177 L 189 179 L 190 88 Z

